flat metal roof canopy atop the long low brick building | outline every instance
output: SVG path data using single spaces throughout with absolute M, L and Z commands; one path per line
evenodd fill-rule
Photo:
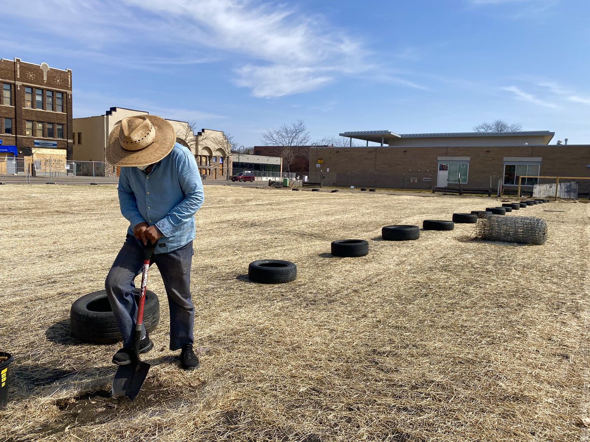
M 373 143 L 386 143 L 388 140 L 399 138 L 435 138 L 435 137 L 515 137 L 515 136 L 543 136 L 549 137 L 547 142 L 555 136 L 555 132 L 548 130 L 518 131 L 518 132 L 446 132 L 446 133 L 424 133 L 424 134 L 401 134 L 389 130 L 363 130 L 351 131 L 340 134 L 341 137 L 354 138 L 355 140 L 372 141 Z

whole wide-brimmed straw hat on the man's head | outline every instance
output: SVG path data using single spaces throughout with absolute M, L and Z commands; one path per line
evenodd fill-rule
M 172 124 L 155 115 L 138 115 L 118 121 L 105 151 L 114 166 L 148 166 L 171 153 L 176 142 Z

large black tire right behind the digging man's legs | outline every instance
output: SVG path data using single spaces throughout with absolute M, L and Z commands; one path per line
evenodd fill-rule
M 134 291 L 139 296 L 139 289 Z M 160 322 L 160 302 L 156 293 L 147 290 L 143 308 L 143 324 L 149 333 Z M 70 308 L 72 337 L 90 344 L 113 344 L 123 338 L 114 319 L 105 290 L 89 293 L 74 301 Z

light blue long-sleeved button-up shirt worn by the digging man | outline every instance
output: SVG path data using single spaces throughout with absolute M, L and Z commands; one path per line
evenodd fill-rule
M 137 167 L 121 167 L 121 213 L 129 220 L 127 232 L 146 222 L 163 233 L 154 253 L 172 252 L 195 239 L 195 213 L 203 204 L 201 174 L 191 151 L 176 143 L 149 174 Z

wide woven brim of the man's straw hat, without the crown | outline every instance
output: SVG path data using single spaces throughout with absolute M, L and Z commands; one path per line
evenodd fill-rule
M 158 161 L 171 153 L 174 143 L 176 143 L 176 133 L 172 124 L 156 115 L 146 115 L 145 117 L 148 118 L 156 130 L 153 143 L 138 151 L 124 150 L 119 142 L 119 129 L 121 127 L 119 121 L 109 134 L 109 141 L 104 152 L 106 160 L 110 164 L 121 167 L 148 166 L 149 164 L 158 163 Z

